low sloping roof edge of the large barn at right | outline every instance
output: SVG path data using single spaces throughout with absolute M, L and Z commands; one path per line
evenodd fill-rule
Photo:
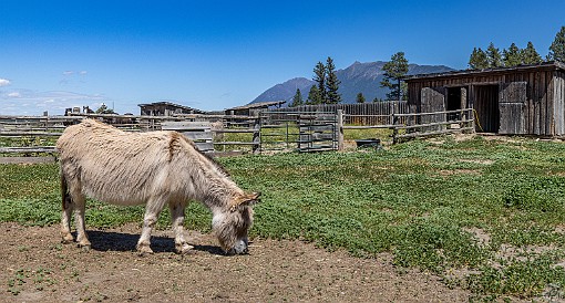
M 430 79 L 524 72 L 524 71 L 532 71 L 532 70 L 563 70 L 563 71 L 565 71 L 565 63 L 559 62 L 559 61 L 549 61 L 549 62 L 543 62 L 540 64 L 518 65 L 518 66 L 513 66 L 513 67 L 496 67 L 496 69 L 486 69 L 486 70 L 462 70 L 462 71 L 451 71 L 451 72 L 444 72 L 444 73 L 418 74 L 418 75 L 407 76 L 407 77 L 404 77 L 404 81 L 411 82 L 411 81 L 430 80 Z

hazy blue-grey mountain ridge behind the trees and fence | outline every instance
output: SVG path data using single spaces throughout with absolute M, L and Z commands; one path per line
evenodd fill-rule
M 355 62 L 345 70 L 336 71 L 341 84 L 339 85 L 339 93 L 341 94 L 342 103 L 355 103 L 358 93 L 363 93 L 367 102 L 371 102 L 374 97 L 386 98 L 387 88 L 380 87 L 380 82 L 383 80 L 382 66 L 387 62 Z M 408 66 L 408 74 L 429 74 L 429 73 L 443 73 L 453 71 L 453 69 L 445 65 L 418 65 L 410 64 Z M 306 77 L 295 77 L 287 82 L 277 84 L 263 94 L 257 96 L 251 103 L 267 102 L 267 101 L 287 101 L 287 105 L 291 103 L 296 94 L 296 88 L 302 93 L 302 97 L 308 97 L 310 87 L 315 84 L 314 81 Z

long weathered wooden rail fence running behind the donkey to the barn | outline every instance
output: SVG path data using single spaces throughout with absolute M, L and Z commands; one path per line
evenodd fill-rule
M 378 105 L 374 105 L 378 104 Z M 355 105 L 349 107 L 349 105 Z M 84 117 L 95 117 L 127 132 L 174 129 L 195 140 L 203 152 L 222 154 L 264 153 L 270 150 L 318 152 L 341 149 L 343 129 L 389 128 L 393 143 L 413 137 L 425 137 L 460 132 L 474 132 L 473 109 L 436 113 L 407 113 L 401 102 L 346 104 L 343 108 L 357 112 L 269 111 L 258 116 L 183 115 L 174 117 L 76 115 L 50 117 L 0 116 L 0 154 L 55 155 L 55 139 L 63 129 Z M 368 109 L 369 108 L 369 109 Z M 372 108 L 372 109 L 370 109 Z M 376 109 L 378 108 L 378 109 Z M 285 108 L 288 109 L 288 108 Z M 363 112 L 364 111 L 364 112 Z M 372 111 L 372 112 L 371 112 Z M 371 113 L 371 114 L 369 114 Z M 356 122 L 356 123 L 351 123 Z M 18 144 L 6 142 L 18 138 Z M 234 139 L 235 138 L 235 139 Z M 6 142 L 4 142 L 6 140 Z

